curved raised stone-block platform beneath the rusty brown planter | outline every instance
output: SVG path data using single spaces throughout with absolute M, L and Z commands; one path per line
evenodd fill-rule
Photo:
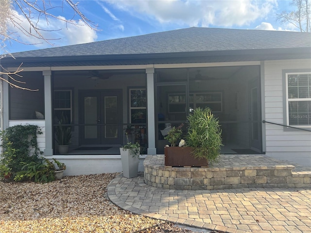
M 164 166 L 164 155 L 148 155 L 144 160 L 144 182 L 178 190 L 311 188 L 311 171 L 294 170 L 293 165 L 281 165 L 263 155 L 221 155 L 220 163 L 212 167 Z

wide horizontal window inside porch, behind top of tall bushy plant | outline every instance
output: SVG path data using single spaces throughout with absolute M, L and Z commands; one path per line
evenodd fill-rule
M 169 94 L 169 113 L 185 113 L 186 98 L 185 94 Z M 194 108 L 210 108 L 213 112 L 222 112 L 222 93 L 190 93 L 189 96 L 190 109 Z

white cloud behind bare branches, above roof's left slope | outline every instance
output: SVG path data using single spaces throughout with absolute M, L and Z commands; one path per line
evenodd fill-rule
M 14 11 L 14 14 L 16 15 L 20 27 L 29 30 L 29 22 L 27 19 L 24 16 L 19 15 L 16 11 Z M 44 29 L 44 31 L 40 31 L 40 33 L 44 38 L 48 39 L 49 43 L 55 46 L 88 43 L 97 39 L 96 31 L 86 26 L 82 20 L 73 21 L 74 24 L 69 24 L 61 19 L 66 18 L 59 16 L 59 19 L 50 18 L 49 22 L 45 19 L 41 19 L 38 22 L 34 21 L 33 23 L 37 24 L 38 28 Z M 36 38 L 37 35 L 31 36 L 27 33 L 22 33 L 16 25 L 9 25 L 9 30 L 16 32 L 15 38 L 23 44 L 35 44 L 39 48 L 45 48 L 47 45 L 47 42 L 44 40 Z M 31 32 L 33 34 L 35 33 L 33 29 Z

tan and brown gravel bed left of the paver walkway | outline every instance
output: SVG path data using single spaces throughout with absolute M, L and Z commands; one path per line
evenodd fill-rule
M 45 184 L 0 182 L 0 232 L 192 232 L 112 204 L 105 187 L 117 174 L 68 176 Z

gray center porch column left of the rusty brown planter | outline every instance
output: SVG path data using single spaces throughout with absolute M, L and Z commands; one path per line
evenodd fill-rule
M 146 68 L 147 74 L 147 132 L 148 132 L 148 154 L 156 154 L 155 148 L 155 68 Z

